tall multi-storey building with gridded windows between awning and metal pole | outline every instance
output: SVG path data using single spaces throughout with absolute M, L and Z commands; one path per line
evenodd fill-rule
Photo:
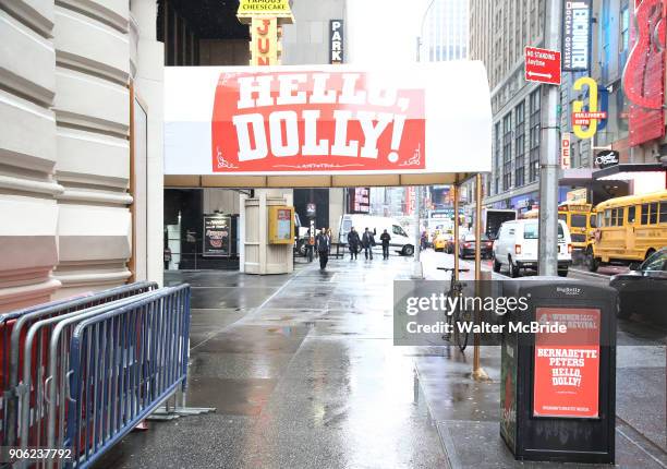
M 544 26 L 544 0 L 470 2 L 470 58 L 486 65 L 494 113 L 487 206 L 530 209 L 538 196 L 543 92 L 524 81 L 523 48 L 543 46 Z

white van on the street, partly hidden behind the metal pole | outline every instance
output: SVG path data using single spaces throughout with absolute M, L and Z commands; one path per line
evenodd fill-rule
M 494 242 L 494 272 L 507 267 L 512 277 L 522 268 L 537 269 L 539 228 L 536 219 L 506 221 Z M 568 276 L 572 264 L 572 240 L 565 221 L 558 220 L 558 275 Z

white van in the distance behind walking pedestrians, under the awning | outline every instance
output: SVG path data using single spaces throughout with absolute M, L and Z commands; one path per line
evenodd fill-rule
M 414 239 L 401 227 L 396 218 L 374 217 L 372 215 L 352 215 L 345 214 L 340 217 L 340 227 L 338 229 L 339 240 L 341 244 L 347 244 L 348 233 L 354 227 L 361 239 L 364 230 L 368 228 L 375 234 L 375 242 L 380 245 L 379 236 L 386 229 L 391 241 L 390 248 L 399 248 L 403 255 L 414 254 Z

